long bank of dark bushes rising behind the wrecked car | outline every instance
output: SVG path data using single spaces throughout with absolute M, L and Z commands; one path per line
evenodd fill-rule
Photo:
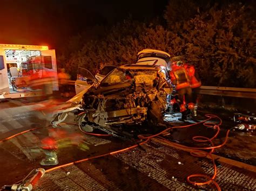
M 79 51 L 60 58 L 75 76 L 77 67 L 95 73 L 100 62 L 124 65 L 134 62 L 144 48 L 160 49 L 172 56 L 184 55 L 196 66 L 206 86 L 255 87 L 255 23 L 251 6 L 203 3 L 199 8 L 195 2 L 170 1 L 165 11 L 166 28 L 156 22 L 145 24 L 129 18 L 113 26 L 104 38 L 83 45 L 79 38 L 73 38 L 71 44 Z M 183 15 L 179 6 L 184 6 Z

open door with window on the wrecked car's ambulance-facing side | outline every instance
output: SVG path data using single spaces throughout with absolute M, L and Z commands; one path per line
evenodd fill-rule
M 77 80 L 75 82 L 76 94 L 84 89 L 87 89 L 91 84 L 98 82 L 98 80 L 92 75 L 92 73 L 85 68 L 78 68 Z

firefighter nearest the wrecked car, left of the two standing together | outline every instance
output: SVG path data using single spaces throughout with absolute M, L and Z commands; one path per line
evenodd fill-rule
M 190 77 L 187 74 L 186 69 L 183 67 L 183 61 L 173 60 L 170 77 L 172 83 L 176 86 L 178 93 L 178 101 L 180 104 L 180 112 L 182 114 L 181 120 L 187 120 L 186 103 L 189 110 L 194 109 L 192 102 L 192 89 L 190 87 Z M 184 100 L 185 97 L 185 100 Z

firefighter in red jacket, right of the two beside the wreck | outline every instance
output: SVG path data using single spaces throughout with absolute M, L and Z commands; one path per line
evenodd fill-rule
M 187 70 L 188 76 L 190 77 L 190 87 L 192 89 L 192 102 L 194 103 L 194 109 L 191 110 L 191 116 L 193 119 L 196 119 L 197 108 L 198 108 L 197 95 L 198 95 L 199 88 L 201 86 L 201 81 L 194 66 L 188 65 L 186 63 L 184 65 L 184 68 Z

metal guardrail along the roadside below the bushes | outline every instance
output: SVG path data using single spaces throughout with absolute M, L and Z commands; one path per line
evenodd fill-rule
M 70 85 L 74 85 L 75 81 L 70 80 Z M 203 95 L 217 95 L 243 98 L 256 98 L 256 89 L 253 88 L 231 88 L 231 87 L 215 87 L 215 86 L 201 86 L 199 94 Z

